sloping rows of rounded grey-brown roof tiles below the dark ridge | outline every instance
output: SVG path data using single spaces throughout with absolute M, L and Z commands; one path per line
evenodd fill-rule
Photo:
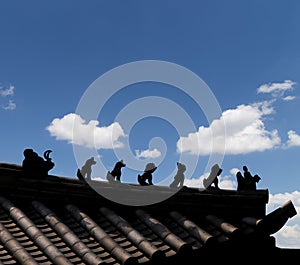
M 0 197 L 0 205 L 2 264 L 157 264 L 253 238 L 266 242 L 277 221 L 282 225 L 296 214 L 289 201 L 237 226 L 212 215 L 196 224 L 177 211 L 156 218 L 137 209 L 128 212 L 128 221 L 106 207 L 91 217 L 71 204 L 52 206 L 55 212 L 40 201 L 19 207 Z

